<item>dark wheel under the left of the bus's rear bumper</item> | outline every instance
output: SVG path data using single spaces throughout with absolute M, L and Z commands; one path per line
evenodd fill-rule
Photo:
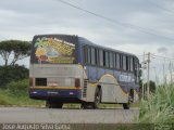
M 54 102 L 54 101 L 46 101 L 46 107 L 47 108 L 62 108 L 63 106 L 63 103 L 58 103 L 58 102 Z

